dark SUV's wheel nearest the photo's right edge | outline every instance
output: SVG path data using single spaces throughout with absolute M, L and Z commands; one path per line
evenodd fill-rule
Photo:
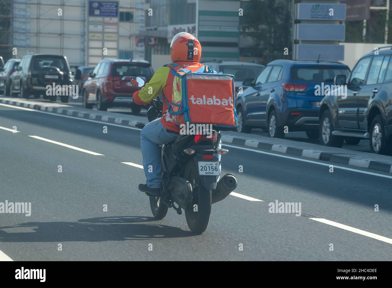
M 381 115 L 374 117 L 370 125 L 370 151 L 375 154 L 390 154 L 390 143 L 387 142 L 387 134 L 384 129 L 384 120 Z

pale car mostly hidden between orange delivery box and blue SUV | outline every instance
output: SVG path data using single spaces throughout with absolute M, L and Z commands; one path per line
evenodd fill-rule
M 223 72 L 225 74 L 234 75 L 234 81 L 236 82 L 236 92 L 238 92 L 240 87 L 243 89 L 247 88 L 243 81 L 246 79 L 253 81 L 256 76 L 263 70 L 264 65 L 250 62 L 237 62 L 237 61 L 206 61 L 202 62 L 214 69 L 216 72 Z

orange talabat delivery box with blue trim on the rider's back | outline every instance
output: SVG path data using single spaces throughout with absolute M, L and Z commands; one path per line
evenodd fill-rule
M 202 73 L 185 71 L 176 63 L 165 66 L 176 72 L 172 101 L 167 103 L 176 125 L 189 122 L 213 124 L 221 128 L 236 127 L 233 75 L 208 73 L 208 66 Z

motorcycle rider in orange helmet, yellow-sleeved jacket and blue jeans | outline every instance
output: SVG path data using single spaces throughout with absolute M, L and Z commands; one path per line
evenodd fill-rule
M 171 60 L 180 65 L 186 72 L 216 73 L 210 67 L 201 63 L 201 45 L 192 34 L 181 32 L 174 36 L 170 44 Z M 163 93 L 169 103 L 172 100 L 173 79 L 175 72 L 170 67 L 159 68 L 151 80 L 141 90 L 133 93 L 133 101 L 139 105 L 146 105 Z M 158 118 L 147 125 L 140 132 L 140 146 L 143 156 L 143 169 L 146 184 L 139 184 L 139 190 L 149 196 L 160 196 L 162 189 L 162 163 L 160 147 L 174 141 L 180 133 L 173 116 L 169 114 L 167 102 L 163 99 L 162 118 Z

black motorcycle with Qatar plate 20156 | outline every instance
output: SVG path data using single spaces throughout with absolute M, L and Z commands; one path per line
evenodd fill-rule
M 145 80 L 136 77 L 131 83 L 144 87 Z M 149 122 L 162 117 L 162 100 L 158 97 L 150 105 Z M 136 124 L 138 128 L 144 126 Z M 225 199 L 237 187 L 234 174 L 226 174 L 218 181 L 220 161 L 216 154 L 229 151 L 218 149 L 221 134 L 216 126 L 212 127 L 212 131 L 204 130 L 201 134 L 179 134 L 174 142 L 161 145 L 163 189 L 160 197 L 150 196 L 155 218 L 165 217 L 171 207 L 178 214 L 182 214 L 183 209 L 189 229 L 197 234 L 203 233 L 209 224 L 211 205 Z

